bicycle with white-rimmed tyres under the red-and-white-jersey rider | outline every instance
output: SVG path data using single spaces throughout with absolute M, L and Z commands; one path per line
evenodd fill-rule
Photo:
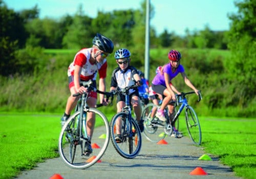
M 87 87 L 88 94 L 91 91 L 106 95 L 109 99 L 112 93 L 101 92 L 92 86 L 93 82 L 82 82 L 81 85 Z M 74 94 L 73 96 L 79 96 L 80 99 L 75 107 L 75 113 L 69 117 L 65 125 L 63 125 L 59 140 L 58 150 L 62 161 L 69 167 L 74 169 L 84 169 L 94 165 L 99 161 L 108 147 L 110 140 L 110 126 L 105 115 L 96 108 L 89 107 L 87 104 L 88 95 L 86 92 L 82 95 Z M 98 104 L 95 107 L 100 107 L 102 104 Z M 85 155 L 83 153 L 84 143 L 88 140 L 87 137 L 87 113 L 92 112 L 95 114 L 95 128 L 93 132 L 93 155 Z M 81 152 L 77 150 L 80 146 Z

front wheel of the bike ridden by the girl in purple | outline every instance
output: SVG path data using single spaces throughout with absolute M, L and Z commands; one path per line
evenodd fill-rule
M 195 110 L 191 106 L 186 107 L 186 125 L 191 140 L 197 144 L 201 144 L 201 127 Z

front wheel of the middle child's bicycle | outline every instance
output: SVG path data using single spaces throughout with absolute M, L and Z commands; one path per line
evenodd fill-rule
M 135 122 L 134 119 L 132 119 L 132 128 L 133 128 L 133 135 L 129 136 L 127 135 L 126 127 L 125 127 L 125 122 L 121 122 L 121 142 L 118 143 L 115 140 L 115 135 L 116 135 L 116 123 L 121 120 L 121 119 L 126 119 L 127 114 L 124 112 L 117 113 L 111 120 L 111 141 L 112 144 L 115 148 L 115 150 L 123 156 L 123 158 L 126 159 L 133 159 L 135 158 L 141 149 L 142 146 L 142 137 L 141 137 L 141 132 L 139 129 L 139 126 L 137 122 Z M 124 120 L 122 120 L 124 121 Z

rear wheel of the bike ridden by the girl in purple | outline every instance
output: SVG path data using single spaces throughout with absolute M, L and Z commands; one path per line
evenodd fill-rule
M 144 120 L 144 131 L 143 134 L 147 140 L 157 143 L 160 140 L 164 139 L 166 134 L 162 130 L 158 130 L 158 126 L 153 126 L 151 119 L 152 109 L 159 106 L 153 103 L 148 103 L 142 110 L 142 119 Z

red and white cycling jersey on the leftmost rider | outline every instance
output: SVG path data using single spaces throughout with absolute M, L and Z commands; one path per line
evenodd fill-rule
M 92 48 L 81 49 L 75 55 L 74 61 L 69 65 L 68 76 L 74 75 L 75 65 L 82 67 L 80 79 L 82 81 L 96 80 L 97 73 L 99 72 L 99 78 L 106 77 L 106 68 L 108 64 L 106 59 L 98 63 L 90 63 Z

